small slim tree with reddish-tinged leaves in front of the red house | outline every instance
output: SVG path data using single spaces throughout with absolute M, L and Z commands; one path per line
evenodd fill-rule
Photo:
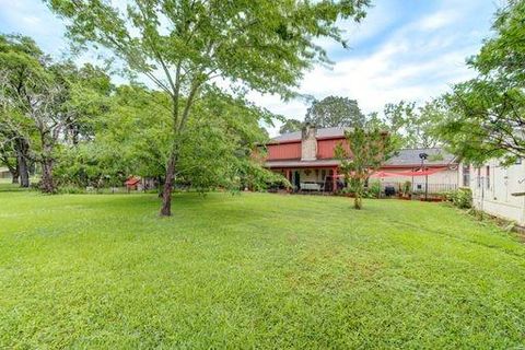
M 348 149 L 341 143 L 336 148 L 336 156 L 341 161 L 340 171 L 354 192 L 354 208 L 362 208 L 364 185 L 370 175 L 396 151 L 390 136 L 377 128 L 354 128 L 345 131 Z

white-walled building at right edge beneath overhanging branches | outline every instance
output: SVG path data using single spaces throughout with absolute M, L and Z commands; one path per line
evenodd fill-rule
M 481 166 L 462 167 L 472 190 L 472 205 L 494 217 L 525 226 L 525 163 L 503 166 L 491 160 Z

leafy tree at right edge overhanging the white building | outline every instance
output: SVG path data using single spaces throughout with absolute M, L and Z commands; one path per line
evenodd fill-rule
M 469 59 L 476 79 L 454 85 L 441 137 L 467 161 L 525 158 L 525 1 L 498 11 L 494 35 Z

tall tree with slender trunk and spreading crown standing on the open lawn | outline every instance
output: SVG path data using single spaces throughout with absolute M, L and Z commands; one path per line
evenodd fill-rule
M 192 107 L 219 78 L 230 91 L 292 95 L 305 69 L 327 62 L 316 37 L 343 42 L 339 19 L 361 19 L 366 0 L 133 0 L 126 9 L 101 0 L 47 0 L 67 19 L 73 42 L 102 45 L 171 97 L 170 151 L 162 215 Z

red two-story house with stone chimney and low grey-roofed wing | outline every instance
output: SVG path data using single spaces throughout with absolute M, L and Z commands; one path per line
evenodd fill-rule
M 302 131 L 271 139 L 266 144 L 265 166 L 287 177 L 295 191 L 335 191 L 343 186 L 340 161 L 335 156 L 338 144 L 347 144 L 345 128 L 316 129 L 306 125 Z M 423 153 L 427 159 L 421 167 Z M 442 191 L 457 187 L 457 168 L 456 159 L 441 149 L 400 150 L 380 170 L 384 176 L 377 178 L 383 187 L 396 188 L 410 180 L 415 190 L 424 190 L 428 179 L 430 191 Z M 431 175 L 421 176 L 423 170 Z

